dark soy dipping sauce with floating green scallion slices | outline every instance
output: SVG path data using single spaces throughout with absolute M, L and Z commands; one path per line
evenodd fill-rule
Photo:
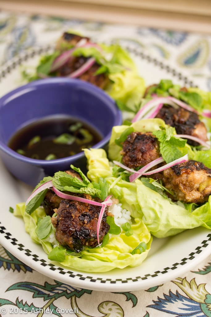
M 90 148 L 102 136 L 92 126 L 66 116 L 38 120 L 17 131 L 8 146 L 32 159 L 61 159 Z

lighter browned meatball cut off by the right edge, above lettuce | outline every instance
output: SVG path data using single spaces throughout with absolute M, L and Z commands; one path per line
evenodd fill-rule
M 189 160 L 164 170 L 163 183 L 173 200 L 202 204 L 211 194 L 211 169 Z

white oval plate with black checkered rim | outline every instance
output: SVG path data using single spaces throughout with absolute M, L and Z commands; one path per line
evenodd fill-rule
M 38 55 L 44 50 L 35 48 L 4 65 L 0 70 L 1 95 L 22 84 L 18 65 L 35 65 Z M 181 85 L 193 85 L 186 76 L 138 49 L 130 48 L 130 51 L 147 84 L 165 78 Z M 0 174 L 0 243 L 29 267 L 54 280 L 78 288 L 100 291 L 126 292 L 148 289 L 181 276 L 211 253 L 211 231 L 196 228 L 170 238 L 154 238 L 148 257 L 136 268 L 114 269 L 94 274 L 62 267 L 59 263 L 48 260 L 41 245 L 35 244 L 25 232 L 22 219 L 14 217 L 9 212 L 10 206 L 14 208 L 16 203 L 26 200 L 32 188 L 15 180 L 1 161 Z

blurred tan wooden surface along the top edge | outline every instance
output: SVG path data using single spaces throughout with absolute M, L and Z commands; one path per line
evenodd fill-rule
M 211 0 L 0 0 L 0 9 L 211 34 Z

